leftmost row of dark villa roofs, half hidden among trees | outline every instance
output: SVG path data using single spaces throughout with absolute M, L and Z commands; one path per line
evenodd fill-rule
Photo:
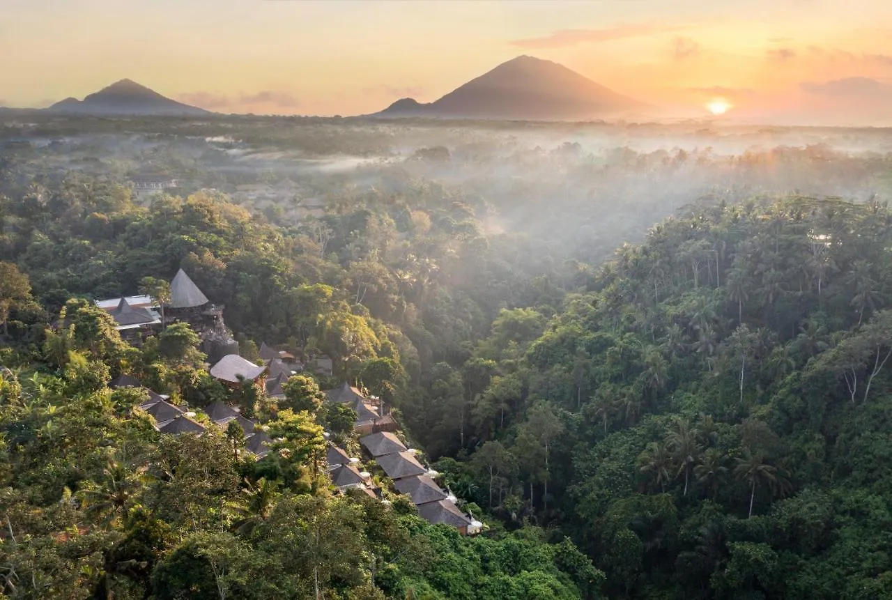
M 182 433 L 195 433 L 201 435 L 207 431 L 207 428 L 194 420 L 195 414 L 189 412 L 185 406 L 178 407 L 171 404 L 168 396 L 164 396 L 143 387 L 143 384 L 130 375 L 121 375 L 111 382 L 109 387 L 115 388 L 136 388 L 148 392 L 149 399 L 139 405 L 155 419 L 155 429 L 161 433 L 169 433 L 172 435 L 180 435 Z M 245 418 L 243 415 L 233 408 L 229 407 L 219 400 L 213 402 L 207 407 L 202 408 L 202 412 L 208 415 L 211 423 L 217 424 L 221 428 L 226 428 L 230 421 L 235 421 L 242 427 L 244 432 L 245 448 L 254 456 L 261 458 L 269 452 L 269 442 L 272 440 L 266 432 L 258 431 L 257 423 Z

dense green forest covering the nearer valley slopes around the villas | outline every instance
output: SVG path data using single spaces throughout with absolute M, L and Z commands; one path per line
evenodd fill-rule
M 581 151 L 551 156 L 567 152 Z M 772 178 L 690 197 L 639 244 L 599 230 L 599 251 L 585 230 L 493 228 L 510 203 L 438 182 L 429 154 L 413 159 L 427 177 L 342 182 L 296 224 L 219 190 L 144 204 L 120 178 L 7 162 L 4 593 L 889 597 L 892 212 L 863 201 L 888 162 L 785 152 L 796 160 L 700 163 Z M 635 156 L 630 181 L 696 168 Z M 858 202 L 773 193 L 794 171 L 870 182 Z M 567 226 L 582 203 L 546 220 Z M 257 462 L 226 432 L 174 439 L 134 416 L 111 377 L 193 406 L 227 392 L 188 334 L 134 349 L 78 299 L 179 267 L 226 305 L 249 358 L 261 341 L 325 352 L 336 373 L 319 388 L 357 382 L 391 402 L 490 530 L 461 538 L 400 501 L 331 497 L 310 458 L 321 408 L 254 398 L 301 432 Z

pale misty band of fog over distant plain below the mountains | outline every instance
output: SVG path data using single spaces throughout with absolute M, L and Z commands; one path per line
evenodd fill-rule
M 300 225 L 325 206 L 343 211 L 371 201 L 406 201 L 413 208 L 459 201 L 491 234 L 528 235 L 556 259 L 603 258 L 698 201 L 779 193 L 885 201 L 892 195 L 888 129 L 718 121 L 4 124 L 0 144 L 21 152 L 23 143 L 36 177 L 78 170 L 125 181 L 136 172 L 164 171 L 178 179 L 177 193 L 226 193 L 281 226 Z M 301 211 L 308 206 L 317 210 Z

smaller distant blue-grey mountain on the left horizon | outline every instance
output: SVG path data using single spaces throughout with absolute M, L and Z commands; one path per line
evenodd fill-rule
M 136 81 L 121 79 L 111 86 L 88 95 L 83 100 L 65 98 L 50 106 L 47 111 L 86 115 L 158 115 L 201 116 L 209 111 L 196 106 L 178 103 L 158 92 L 141 86 Z

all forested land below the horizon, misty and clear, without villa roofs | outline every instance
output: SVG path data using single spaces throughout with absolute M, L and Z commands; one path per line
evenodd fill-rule
M 888 129 L 0 123 L 2 597 L 892 597 Z M 165 320 L 179 269 L 280 393 Z M 142 293 L 136 337 L 95 305 Z

